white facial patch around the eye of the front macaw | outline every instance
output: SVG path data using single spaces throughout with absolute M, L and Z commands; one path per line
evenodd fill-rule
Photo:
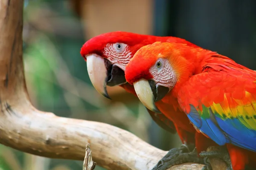
M 175 71 L 166 59 L 158 59 L 149 69 L 149 72 L 152 74 L 153 80 L 157 85 L 163 85 L 172 89 L 177 82 Z

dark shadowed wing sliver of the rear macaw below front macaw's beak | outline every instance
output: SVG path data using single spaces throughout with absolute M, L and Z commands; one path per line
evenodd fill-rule
M 167 130 L 170 133 L 176 133 L 175 125 L 171 120 L 169 120 L 164 114 L 154 113 L 153 111 L 146 108 L 154 122 L 157 123 L 158 126 L 162 127 L 164 130 Z

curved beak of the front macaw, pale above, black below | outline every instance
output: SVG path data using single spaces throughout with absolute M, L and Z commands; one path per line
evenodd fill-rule
M 169 88 L 158 85 L 153 80 L 140 79 L 134 82 L 134 89 L 140 101 L 151 111 L 161 113 L 155 105 L 155 102 L 163 99 L 169 92 Z

